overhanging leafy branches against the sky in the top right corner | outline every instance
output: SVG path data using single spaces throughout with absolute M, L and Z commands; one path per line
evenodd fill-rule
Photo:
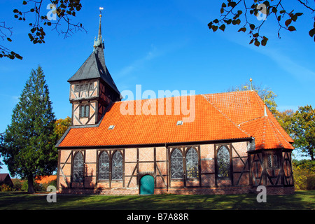
M 289 5 L 289 3 L 291 5 Z M 296 12 L 294 6 L 302 6 L 303 12 Z M 309 36 L 315 41 L 315 2 L 307 0 L 294 1 L 258 1 L 258 0 L 223 0 L 221 17 L 209 22 L 208 27 L 213 31 L 225 31 L 228 25 L 239 26 L 239 32 L 250 36 L 256 46 L 266 45 L 268 38 L 262 34 L 262 27 L 268 26 L 267 21 L 278 25 L 278 37 L 281 30 L 296 31 L 295 22 L 304 15 L 309 15 Z M 269 30 L 268 30 L 269 31 Z

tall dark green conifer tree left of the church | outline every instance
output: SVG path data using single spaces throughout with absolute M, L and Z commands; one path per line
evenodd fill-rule
M 19 99 L 0 152 L 11 176 L 27 179 L 28 193 L 34 193 L 35 176 L 50 175 L 57 168 L 55 115 L 41 66 L 31 71 Z

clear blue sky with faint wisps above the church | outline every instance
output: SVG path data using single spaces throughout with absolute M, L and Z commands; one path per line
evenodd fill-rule
M 25 22 L 13 18 L 14 8 L 23 9 L 22 1 L 1 0 L 0 22 L 5 20 L 13 27 L 13 41 L 1 45 L 23 59 L 0 59 L 0 133 L 10 124 L 31 69 L 38 64 L 45 73 L 56 118 L 71 116 L 67 80 L 93 50 L 100 6 L 104 7 L 106 66 L 120 92 L 135 92 L 136 85 L 157 94 L 158 90 L 225 92 L 253 78 L 254 84 L 270 87 L 278 95 L 280 111 L 314 106 L 315 43 L 308 34 L 312 18 L 305 10 L 305 16 L 295 23 L 297 31 L 283 30 L 281 39 L 276 24 L 267 20 L 262 31 L 269 41 L 266 47 L 257 48 L 248 44 L 248 35 L 237 33 L 239 27 L 228 26 L 224 33 L 208 29 L 207 24 L 220 16 L 221 1 L 94 0 L 82 4 L 73 22 L 82 22 L 87 33 L 63 38 L 46 27 L 45 44 L 34 45 L 27 36 L 31 16 Z M 295 12 L 302 9 L 295 1 L 288 4 Z M 6 166 L 1 172 L 7 172 Z

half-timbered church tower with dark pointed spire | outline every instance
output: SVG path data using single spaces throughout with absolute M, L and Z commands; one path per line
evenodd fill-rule
M 80 69 L 69 78 L 72 125 L 95 125 L 102 119 L 111 102 L 120 101 L 120 92 L 111 78 L 104 57 L 102 13 L 94 50 Z

